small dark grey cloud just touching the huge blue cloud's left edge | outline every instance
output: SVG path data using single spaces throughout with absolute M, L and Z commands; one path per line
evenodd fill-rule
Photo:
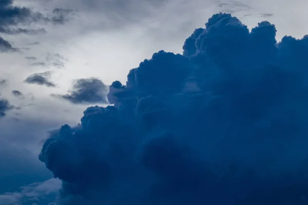
M 108 87 L 98 78 L 81 78 L 74 81 L 69 94 L 51 96 L 68 100 L 72 104 L 106 104 L 107 90 Z

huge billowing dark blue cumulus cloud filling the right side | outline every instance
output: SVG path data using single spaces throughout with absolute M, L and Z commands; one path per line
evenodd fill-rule
M 268 22 L 249 31 L 215 14 L 183 55 L 159 51 L 114 81 L 112 106 L 88 108 L 43 145 L 62 180 L 57 202 L 303 204 L 308 36 L 275 36 Z

